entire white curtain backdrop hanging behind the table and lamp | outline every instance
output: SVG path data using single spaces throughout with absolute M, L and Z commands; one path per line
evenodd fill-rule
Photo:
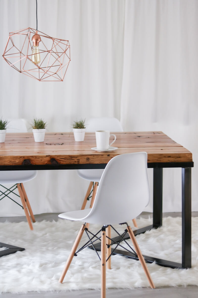
M 38 30 L 68 39 L 71 62 L 64 82 L 38 82 L 1 59 L 0 117 L 70 131 L 79 117 L 108 116 L 125 131 L 163 131 L 193 153 L 198 211 L 197 13 L 197 0 L 38 0 Z M 1 0 L 0 25 L 3 54 L 10 31 L 36 28 L 36 1 Z M 152 195 L 151 169 L 149 179 Z M 163 211 L 181 211 L 181 169 L 164 169 L 163 180 Z M 87 187 L 75 170 L 39 171 L 25 184 L 34 214 L 80 208 Z M 0 216 L 15 215 L 23 210 L 0 201 Z

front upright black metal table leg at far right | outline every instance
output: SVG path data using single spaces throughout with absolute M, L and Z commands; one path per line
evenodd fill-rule
M 182 168 L 182 268 L 191 268 L 191 168 Z

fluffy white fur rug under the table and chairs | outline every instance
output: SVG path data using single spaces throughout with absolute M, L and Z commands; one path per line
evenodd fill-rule
M 151 219 L 137 220 L 139 227 Z M 59 219 L 33 224 L 31 232 L 26 222 L 0 223 L 0 241 L 24 247 L 0 258 L 0 291 L 24 293 L 27 291 L 66 291 L 100 288 L 100 261 L 91 249 L 84 249 L 74 257 L 64 283 L 58 279 L 82 223 Z M 132 224 L 132 222 L 131 222 Z M 148 264 L 156 287 L 198 285 L 198 218 L 192 218 L 192 268 L 171 269 Z M 93 232 L 99 227 L 90 225 Z M 123 231 L 124 226 L 117 226 Z M 132 226 L 133 228 L 133 226 Z M 87 240 L 84 234 L 81 243 Z M 163 227 L 138 235 L 142 253 L 181 263 L 181 218 L 164 218 Z M 131 243 L 130 243 L 131 244 Z M 148 287 L 148 281 L 139 261 L 123 256 L 112 256 L 112 269 L 107 270 L 107 288 Z

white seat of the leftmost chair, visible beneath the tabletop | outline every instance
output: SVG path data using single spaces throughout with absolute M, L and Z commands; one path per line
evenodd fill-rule
M 0 184 L 23 183 L 34 179 L 37 176 L 37 171 L 1 171 Z

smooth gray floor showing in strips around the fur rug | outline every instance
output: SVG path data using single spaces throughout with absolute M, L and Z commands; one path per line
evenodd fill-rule
M 140 215 L 143 218 L 148 218 L 148 216 L 152 216 L 152 213 L 148 212 L 142 212 Z M 164 217 L 172 216 L 177 217 L 181 216 L 181 213 L 175 212 L 175 213 L 164 213 Z M 192 216 L 196 217 L 198 216 L 198 212 L 192 212 Z M 35 215 L 36 221 L 52 221 L 52 220 L 58 220 L 58 213 L 47 213 L 47 214 L 39 214 Z M 20 221 L 26 221 L 25 217 L 2 217 L 0 218 L 0 222 L 4 221 L 10 221 L 10 222 L 20 222 Z M 0 289 L 1 291 L 1 289 Z M 101 297 L 100 291 L 97 290 L 81 290 L 81 291 L 72 291 L 72 292 L 28 292 L 27 294 L 12 294 L 12 293 L 2 293 L 2 296 L 5 296 L 5 298 L 14 298 L 14 297 L 20 297 L 20 298 L 99 298 Z M 198 287 L 194 285 L 189 285 L 187 287 L 164 287 L 164 288 L 156 288 L 155 290 L 151 290 L 151 288 L 138 288 L 135 290 L 129 290 L 129 289 L 108 289 L 107 290 L 107 298 L 128 298 L 128 297 L 147 297 L 147 298 L 197 298 L 198 296 Z

